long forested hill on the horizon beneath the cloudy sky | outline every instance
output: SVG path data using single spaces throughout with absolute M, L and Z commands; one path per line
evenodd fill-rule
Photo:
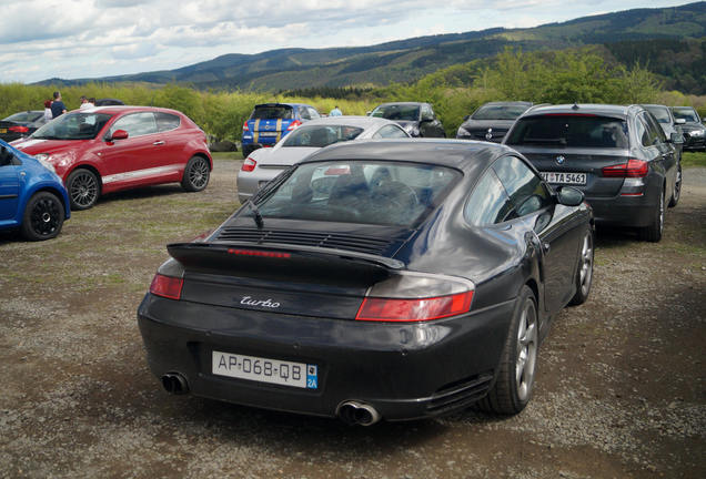
M 199 89 L 281 91 L 312 86 L 386 85 L 414 81 L 456 63 L 523 51 L 605 44 L 618 61 L 641 62 L 668 86 L 703 94 L 706 2 L 635 9 L 531 29 L 490 29 L 420 37 L 360 48 L 282 49 L 226 54 L 170 71 L 101 79 L 50 79 L 40 84 L 102 82 L 186 83 Z M 688 75 L 689 78 L 685 78 Z

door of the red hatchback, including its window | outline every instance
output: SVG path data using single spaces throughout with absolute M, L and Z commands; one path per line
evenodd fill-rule
M 124 140 L 105 141 L 99 151 L 103 190 L 111 191 L 151 183 L 161 166 L 157 122 L 152 112 L 128 113 L 110 126 L 110 139 L 118 130 L 128 132 Z

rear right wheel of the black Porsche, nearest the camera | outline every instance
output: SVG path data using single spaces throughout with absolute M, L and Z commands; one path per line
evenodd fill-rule
M 523 286 L 517 297 L 495 384 L 478 408 L 498 415 L 516 415 L 532 398 L 539 346 L 536 300 Z

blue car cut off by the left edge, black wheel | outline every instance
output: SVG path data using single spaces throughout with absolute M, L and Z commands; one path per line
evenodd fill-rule
M 56 237 L 69 220 L 69 195 L 49 163 L 0 140 L 0 231 L 29 241 Z

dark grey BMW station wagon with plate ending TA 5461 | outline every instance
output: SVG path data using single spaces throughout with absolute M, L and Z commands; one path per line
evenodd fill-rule
M 658 242 L 665 205 L 679 201 L 678 140 L 641 105 L 574 104 L 530 110 L 504 143 L 548 183 L 582 190 L 596 222 L 636 227 Z

